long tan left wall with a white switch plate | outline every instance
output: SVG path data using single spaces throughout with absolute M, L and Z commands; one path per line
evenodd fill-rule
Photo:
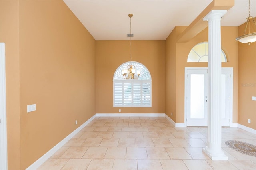
M 96 41 L 63 1 L 1 1 L 2 9 L 8 168 L 25 169 L 96 113 Z

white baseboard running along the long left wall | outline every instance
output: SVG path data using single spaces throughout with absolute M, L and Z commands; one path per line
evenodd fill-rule
M 93 115 L 88 121 L 83 123 L 80 127 L 78 127 L 76 130 L 74 130 L 72 133 L 70 133 L 66 138 L 64 138 L 62 141 L 60 141 L 58 144 L 56 144 L 53 148 L 51 148 L 46 154 L 44 154 L 41 158 L 36 160 L 33 164 L 31 164 L 26 170 L 35 170 L 39 166 L 41 166 L 46 160 L 48 160 L 57 150 L 59 150 L 68 140 L 70 140 L 72 137 L 74 137 L 82 128 L 84 128 L 88 123 L 90 123 L 96 115 Z

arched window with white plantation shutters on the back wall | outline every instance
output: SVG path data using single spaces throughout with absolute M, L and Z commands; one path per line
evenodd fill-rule
M 120 65 L 113 77 L 113 106 L 114 107 L 151 107 L 151 75 L 141 63 L 132 61 L 136 70 L 141 70 L 138 79 L 124 79 L 122 70 L 131 62 Z M 135 75 L 134 77 L 138 77 Z

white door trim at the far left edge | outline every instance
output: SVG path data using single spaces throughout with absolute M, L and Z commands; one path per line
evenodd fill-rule
M 0 169 L 7 170 L 5 44 L 0 43 Z

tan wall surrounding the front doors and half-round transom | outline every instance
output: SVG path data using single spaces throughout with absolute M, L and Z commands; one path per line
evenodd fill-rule
M 175 32 L 176 36 L 179 35 L 179 32 L 182 32 L 184 27 L 176 27 Z M 222 49 L 225 51 L 227 55 L 227 63 L 222 63 L 222 67 L 233 67 L 234 73 L 234 84 L 233 84 L 233 123 L 237 123 L 237 84 L 238 84 L 238 42 L 236 42 L 235 37 L 238 35 L 237 27 L 222 27 Z M 176 100 L 172 100 L 175 103 L 175 122 L 176 123 L 184 123 L 184 74 L 185 67 L 208 67 L 207 63 L 188 63 L 187 57 L 188 53 L 194 47 L 194 45 L 200 42 L 208 41 L 208 28 L 204 29 L 200 34 L 195 36 L 192 40 L 186 43 L 176 43 Z M 174 44 L 172 44 L 174 45 Z M 166 46 L 166 49 L 168 47 Z M 173 48 L 173 47 L 169 47 Z M 170 54 L 166 53 L 166 56 L 170 56 Z M 167 74 L 167 73 L 166 73 Z M 166 78 L 166 81 L 168 77 Z M 168 89 L 168 87 L 166 87 Z M 168 94 L 170 95 L 170 94 Z M 169 101 L 166 100 L 166 106 Z M 173 104 L 170 104 L 173 105 Z M 168 110 L 166 110 L 168 111 Z M 170 111 L 169 111 L 170 112 Z M 170 113 L 168 112 L 168 115 Z

